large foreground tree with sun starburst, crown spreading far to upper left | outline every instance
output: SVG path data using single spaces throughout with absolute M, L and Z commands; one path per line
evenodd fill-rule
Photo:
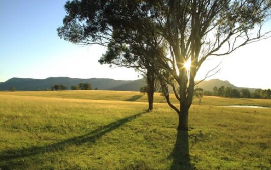
M 73 43 L 104 45 L 112 42 L 115 31 L 121 33 L 120 26 L 125 24 L 134 40 L 140 37 L 137 42 L 158 37 L 168 53 L 161 53 L 159 45 L 147 41 L 145 45 L 152 47 L 156 57 L 145 57 L 159 68 L 156 76 L 165 99 L 178 114 L 177 129 L 188 130 L 189 108 L 199 83 L 194 79 L 201 65 L 210 56 L 227 55 L 269 37 L 269 32 L 262 34 L 261 30 L 270 6 L 269 0 L 68 1 L 65 8 L 69 15 L 58 34 Z M 191 66 L 186 64 L 189 61 Z M 214 74 L 215 68 L 205 78 Z M 170 102 L 169 87 L 174 89 L 178 107 Z

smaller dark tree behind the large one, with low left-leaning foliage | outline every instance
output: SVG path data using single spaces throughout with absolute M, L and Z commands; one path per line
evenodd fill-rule
M 159 88 L 159 81 L 155 76 L 157 68 L 152 60 L 154 60 L 156 54 L 154 54 L 152 47 L 150 45 L 144 45 L 144 42 L 151 41 L 144 38 L 136 38 L 130 32 L 124 35 L 125 29 L 121 30 L 121 34 L 115 33 L 114 35 L 119 35 L 116 39 L 120 42 L 109 43 L 107 52 L 101 57 L 99 62 L 101 64 L 114 64 L 117 66 L 123 66 L 127 68 L 134 68 L 140 72 L 147 82 L 146 93 L 148 96 L 149 107 L 148 110 L 153 110 L 153 98 L 154 92 Z M 121 35 L 121 36 L 120 36 Z M 140 39 L 141 42 L 138 42 Z M 125 42 L 125 44 L 123 44 Z M 129 45 L 128 45 L 129 44 Z M 149 56 L 152 56 L 150 60 Z

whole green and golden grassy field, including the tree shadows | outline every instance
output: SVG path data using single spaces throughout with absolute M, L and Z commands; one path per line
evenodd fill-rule
M 174 99 L 173 99 L 174 100 Z M 270 169 L 271 100 L 204 96 L 188 132 L 160 94 L 0 92 L 0 169 Z M 176 101 L 175 101 L 176 102 Z

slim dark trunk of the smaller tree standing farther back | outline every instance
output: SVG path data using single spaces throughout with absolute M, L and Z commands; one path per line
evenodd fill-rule
M 154 101 L 154 72 L 148 70 L 147 72 L 147 101 L 149 103 L 149 111 L 153 110 L 153 101 Z

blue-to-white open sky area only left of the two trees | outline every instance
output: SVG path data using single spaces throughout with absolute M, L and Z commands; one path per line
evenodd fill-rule
M 65 0 L 0 1 L 0 82 L 12 77 L 137 79 L 133 69 L 101 66 L 101 46 L 81 47 L 59 39 Z M 129 73 L 129 75 L 124 74 Z

